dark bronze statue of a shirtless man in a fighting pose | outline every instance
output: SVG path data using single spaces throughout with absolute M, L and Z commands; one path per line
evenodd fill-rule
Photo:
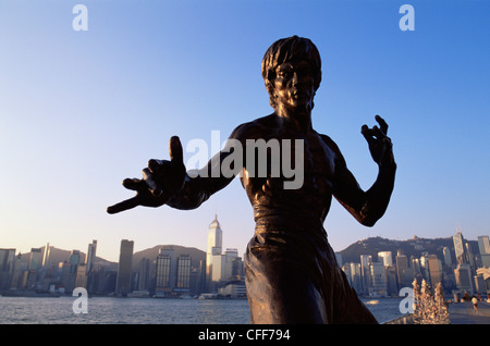
M 388 125 L 377 115 L 379 126 L 362 127 L 379 165 L 376 182 L 364 191 L 335 143 L 311 126 L 314 97 L 321 81 L 316 46 L 297 36 L 280 39 L 267 50 L 261 71 L 272 114 L 237 126 L 229 139 L 233 148 L 226 145 L 193 177 L 184 166 L 179 137 L 172 137 L 171 160 L 150 160 L 142 180 L 124 180 L 124 187 L 136 196 L 109 207 L 108 212 L 162 205 L 194 209 L 240 174 L 256 222 L 245 256 L 252 323 L 377 323 L 336 263 L 323 221 L 332 196 L 366 226 L 383 215 L 396 171 Z M 271 174 L 272 166 L 267 174 L 257 174 L 257 166 L 249 164 L 257 162 L 247 161 L 245 153 L 243 163 L 233 168 L 234 175 L 211 174 L 236 153 L 236 143 L 246 151 L 259 139 L 299 140 L 303 150 L 295 155 L 296 159 L 304 156 L 299 187 L 285 188 L 283 183 L 290 177 Z

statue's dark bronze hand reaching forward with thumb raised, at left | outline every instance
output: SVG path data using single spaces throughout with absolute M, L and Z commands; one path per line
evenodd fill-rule
M 169 153 L 170 161 L 149 160 L 148 168 L 143 170 L 142 180 L 125 178 L 123 186 L 135 190 L 136 196 L 107 208 L 107 212 L 114 214 L 137 206 L 160 207 L 179 193 L 185 178 L 185 165 L 179 137 L 170 138 Z

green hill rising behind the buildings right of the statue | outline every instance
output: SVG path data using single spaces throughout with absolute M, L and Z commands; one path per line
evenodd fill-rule
M 471 251 L 474 254 L 477 254 L 478 242 L 466 242 L 469 243 Z M 378 252 L 391 251 L 394 258 L 399 250 L 408 258 L 411 258 L 411 256 L 419 258 L 424 252 L 427 252 L 428 255 L 437 255 L 439 259 L 442 259 L 442 249 L 444 247 L 448 247 L 450 249 L 452 260 L 453 262 L 455 262 L 454 244 L 452 237 L 430 239 L 414 236 L 414 238 L 407 240 L 392 240 L 382 237 L 371 237 L 356 242 L 339 252 L 342 255 L 342 262 L 358 263 L 360 261 L 360 255 L 370 255 L 372 256 L 372 260 L 377 261 Z

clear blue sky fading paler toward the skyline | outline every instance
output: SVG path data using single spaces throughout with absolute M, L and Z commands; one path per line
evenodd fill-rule
M 88 30 L 75 32 L 76 3 Z M 402 4 L 415 30 L 402 32 Z M 118 260 L 158 244 L 206 248 L 218 212 L 224 247 L 254 232 L 238 180 L 200 209 L 106 207 L 168 140 L 211 131 L 224 140 L 272 109 L 260 75 L 267 48 L 309 37 L 322 58 L 314 127 L 340 146 L 363 188 L 373 183 L 360 126 L 382 115 L 399 164 L 392 201 L 367 228 L 333 202 L 334 250 L 368 236 L 476 239 L 490 230 L 490 2 L 0 1 L 0 247 L 46 243 Z M 193 153 L 186 152 L 184 160 Z M 211 155 L 211 153 L 210 153 Z

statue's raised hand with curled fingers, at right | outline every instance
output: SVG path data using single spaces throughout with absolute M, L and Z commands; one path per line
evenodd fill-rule
M 392 164 L 394 163 L 393 146 L 390 137 L 387 136 L 388 124 L 379 115 L 376 115 L 375 119 L 378 122 L 379 127 L 375 125 L 372 128 L 369 128 L 367 125 L 363 125 L 360 133 L 369 145 L 372 160 L 378 164 Z

